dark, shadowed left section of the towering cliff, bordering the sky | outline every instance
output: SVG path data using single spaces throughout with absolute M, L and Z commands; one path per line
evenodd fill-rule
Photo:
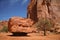
M 37 21 L 37 1 L 31 0 L 30 4 L 28 5 L 28 14 L 27 18 L 31 18 L 33 21 Z

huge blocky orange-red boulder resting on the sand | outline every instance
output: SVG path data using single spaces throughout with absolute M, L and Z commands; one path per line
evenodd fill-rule
M 31 19 L 21 18 L 21 17 L 12 17 L 9 19 L 8 28 L 10 32 L 32 32 L 33 28 L 31 27 L 33 21 Z

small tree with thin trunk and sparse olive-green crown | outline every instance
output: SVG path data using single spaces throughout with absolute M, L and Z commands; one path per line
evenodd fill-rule
M 40 19 L 35 25 L 38 31 L 41 29 L 44 31 L 44 36 L 46 36 L 46 31 L 52 27 L 52 23 L 48 19 Z

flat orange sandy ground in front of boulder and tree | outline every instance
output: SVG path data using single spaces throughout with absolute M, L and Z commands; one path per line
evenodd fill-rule
M 11 33 L 0 33 L 0 40 L 60 40 L 60 34 L 43 36 L 39 33 L 30 33 L 28 36 L 11 36 Z

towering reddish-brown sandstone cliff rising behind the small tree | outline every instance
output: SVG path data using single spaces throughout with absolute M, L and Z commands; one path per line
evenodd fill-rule
M 37 22 L 40 18 L 52 20 L 60 29 L 60 0 L 31 0 L 27 18 Z M 58 25 L 58 26 L 57 26 Z

